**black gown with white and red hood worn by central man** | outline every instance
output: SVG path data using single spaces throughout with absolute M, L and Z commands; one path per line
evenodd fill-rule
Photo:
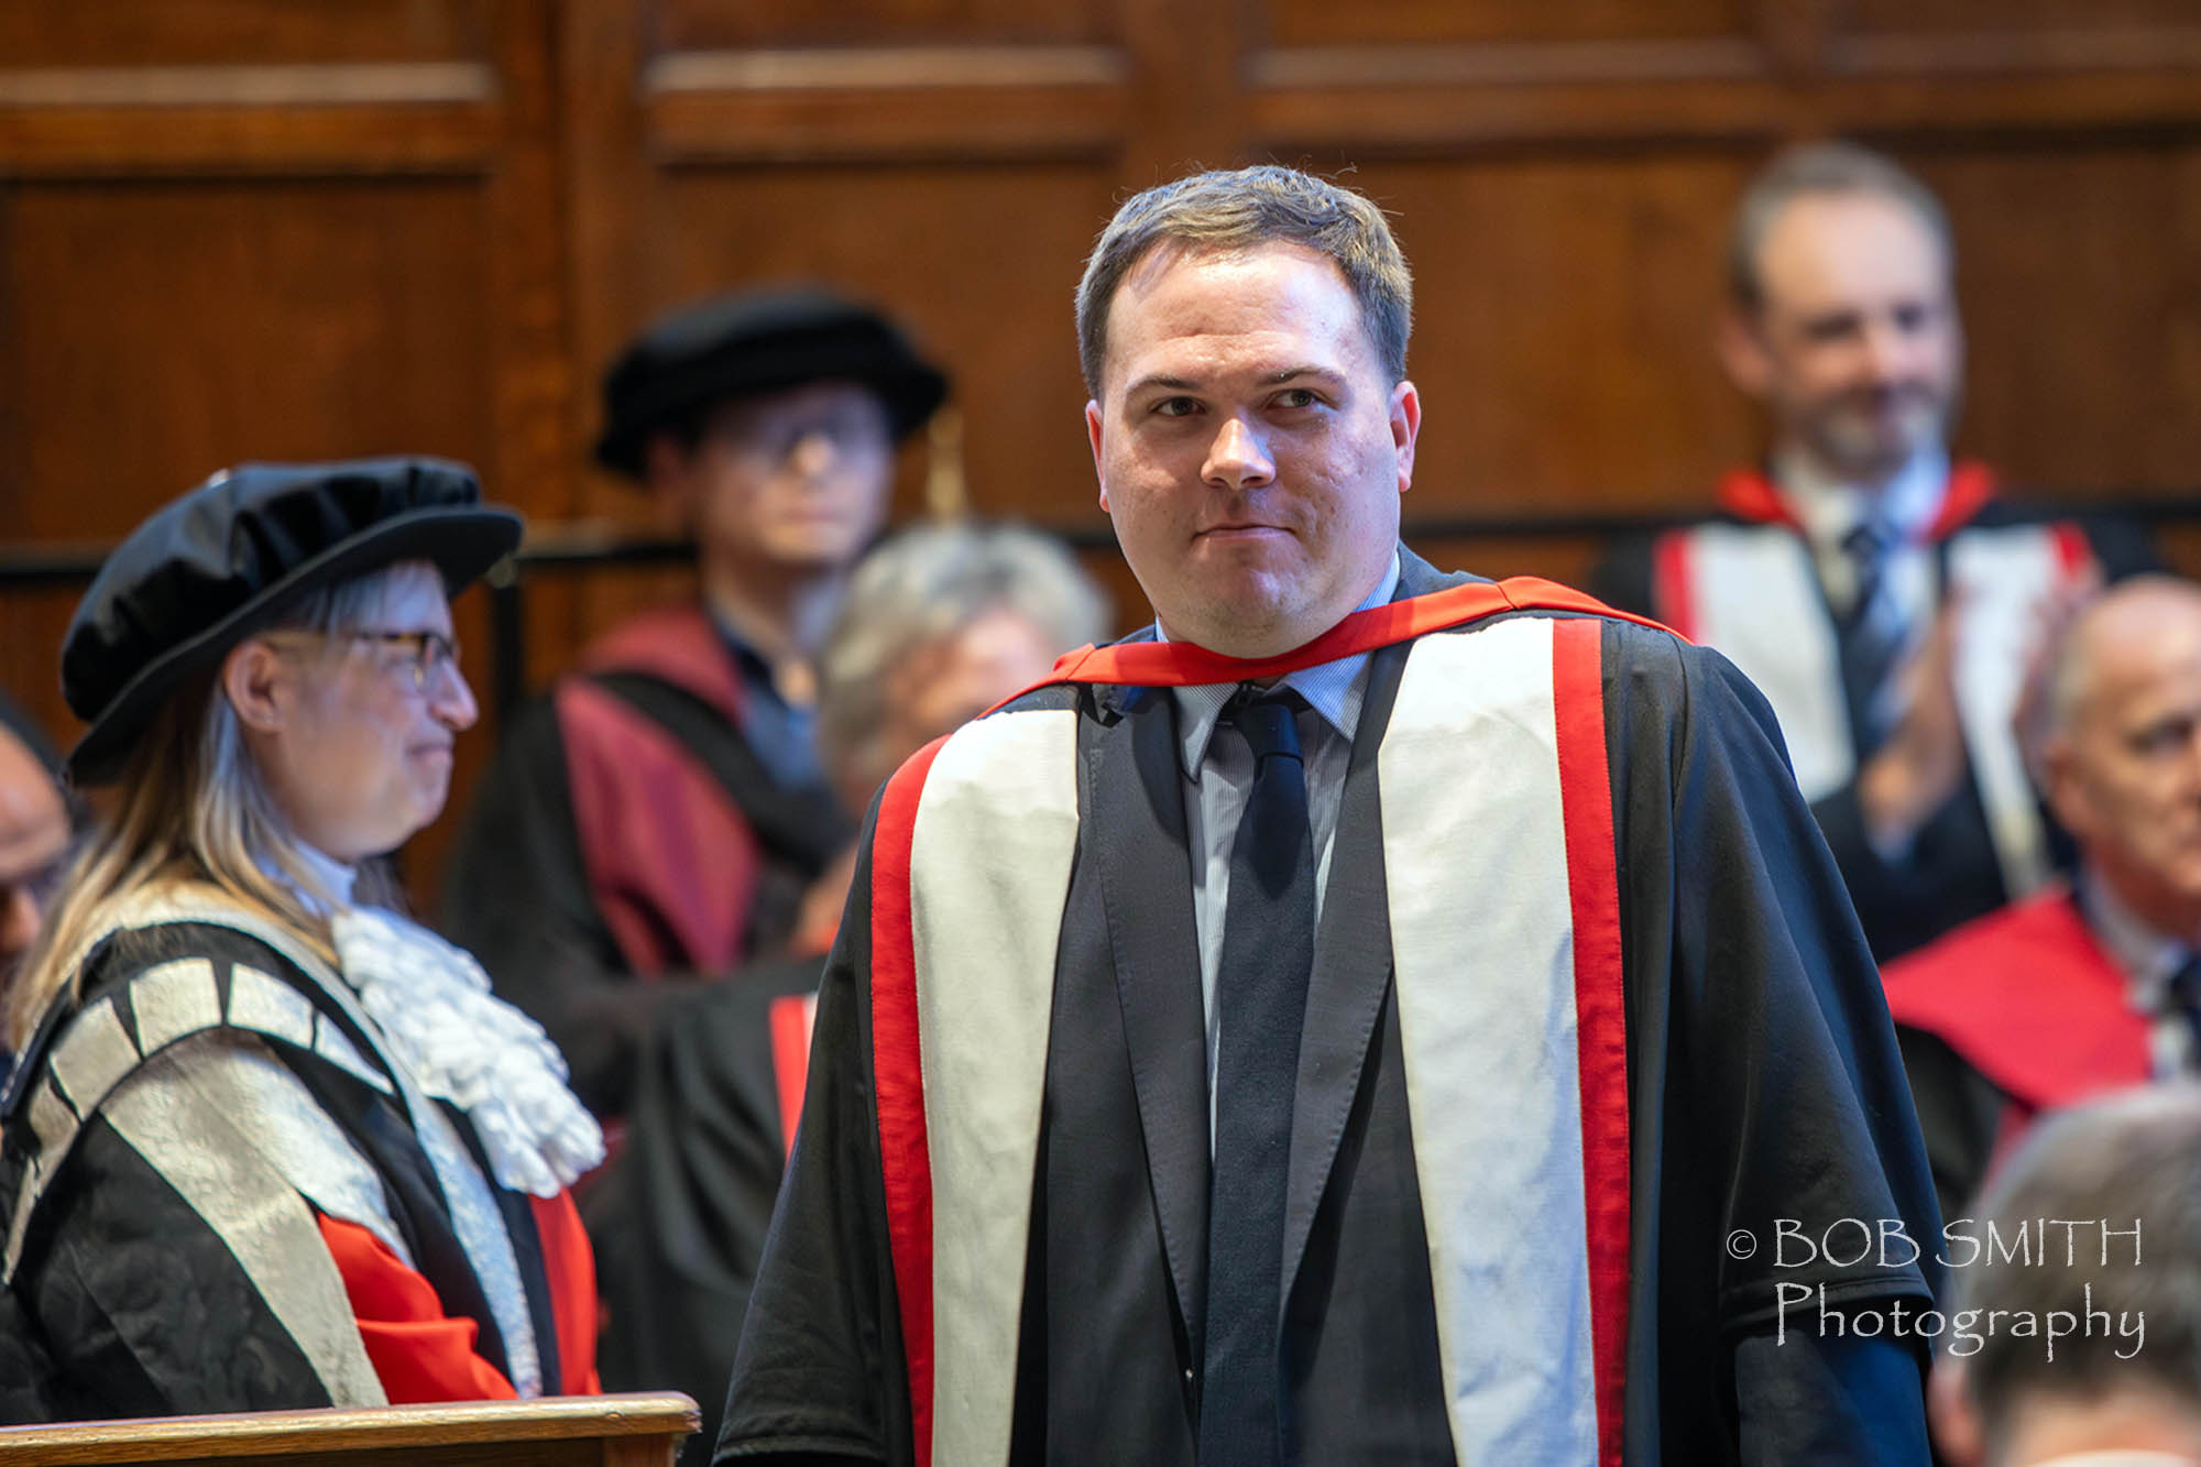
M 1765 703 L 1547 582 L 1402 553 L 1400 597 L 1259 663 L 1070 654 L 887 784 L 720 1463 L 1193 1463 L 1211 1132 L 1167 685 L 1365 650 L 1292 1121 L 1285 1456 L 1924 1460 L 1919 1341 L 1816 1313 L 1880 1328 L 1921 1271 L 1776 1267 L 1783 1220 L 1937 1218 Z M 1778 1284 L 1814 1308 L 1783 1319 Z

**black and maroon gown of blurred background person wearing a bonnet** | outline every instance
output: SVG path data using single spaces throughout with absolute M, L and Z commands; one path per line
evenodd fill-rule
M 618 1117 L 663 1042 L 660 1009 L 779 956 L 852 824 L 823 780 L 788 784 L 751 745 L 759 674 L 700 610 L 638 617 L 583 663 L 506 729 L 440 925 L 550 1033 L 574 1095 Z

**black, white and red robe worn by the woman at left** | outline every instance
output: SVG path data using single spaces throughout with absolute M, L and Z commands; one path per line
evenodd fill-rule
M 596 1392 L 570 1194 L 218 892 L 88 943 L 0 1090 L 0 1423 Z

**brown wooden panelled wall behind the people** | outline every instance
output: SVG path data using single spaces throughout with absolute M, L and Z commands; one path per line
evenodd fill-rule
M 766 278 L 907 315 L 979 509 L 1094 524 L 1083 251 L 1127 189 L 1252 159 L 1395 214 L 1409 518 L 1679 509 L 1754 447 L 1708 350 L 1726 211 L 1825 134 L 1948 198 L 1968 449 L 2058 491 L 2201 485 L 2192 0 L 9 0 L 0 537 L 103 542 L 231 460 L 398 449 L 539 524 L 645 526 L 583 467 L 596 374 L 658 308 Z M 530 676 L 676 588 L 537 577 Z M 64 738 L 73 601 L 0 610 L 0 685 Z

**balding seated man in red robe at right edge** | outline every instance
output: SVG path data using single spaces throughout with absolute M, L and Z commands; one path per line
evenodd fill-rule
M 2201 586 L 2104 593 L 2062 637 L 2043 711 L 2076 881 L 1884 974 L 1950 1218 L 2043 1110 L 2201 1071 Z

